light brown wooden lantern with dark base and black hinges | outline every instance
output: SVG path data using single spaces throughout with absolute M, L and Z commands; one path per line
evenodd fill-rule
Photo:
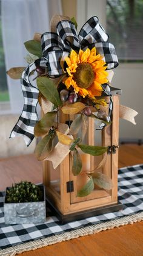
M 111 88 L 111 93 L 113 96 L 111 125 L 102 130 L 96 130 L 94 119 L 88 118 L 87 140 L 89 145 L 112 146 L 114 148 L 119 144 L 119 94 L 121 94 L 121 90 Z M 105 100 L 108 101 L 108 99 L 109 97 L 105 96 Z M 61 122 L 64 123 L 66 118 L 67 116 L 62 114 Z M 99 162 L 99 158 L 103 156 L 81 155 L 83 171 L 79 176 L 73 176 L 71 172 L 71 153 L 65 157 L 56 169 L 53 169 L 52 162 L 47 160 L 43 162 L 47 201 L 62 222 L 115 212 L 121 209 L 121 204 L 118 202 L 118 148 L 115 150 L 116 152 L 111 151 L 111 154 L 108 154 L 104 167 L 98 170 L 98 172 L 102 172 L 111 178 L 113 188 L 102 190 L 95 186 L 95 190 L 84 197 L 76 196 L 78 189 L 87 181 L 87 176 L 84 174 L 89 169 L 94 169 L 96 163 Z

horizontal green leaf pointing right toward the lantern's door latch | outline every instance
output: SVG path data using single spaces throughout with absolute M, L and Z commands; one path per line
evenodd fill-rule
M 86 154 L 98 156 L 104 154 L 108 147 L 99 147 L 99 146 L 88 146 L 85 144 L 78 144 L 78 147 Z

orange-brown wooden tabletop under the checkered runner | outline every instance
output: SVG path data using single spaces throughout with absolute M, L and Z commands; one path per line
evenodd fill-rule
M 124 145 L 119 149 L 119 168 L 143 163 L 143 147 Z M 0 159 L 0 190 L 12 183 L 42 182 L 42 165 L 34 155 Z M 143 222 L 106 230 L 70 241 L 24 252 L 22 256 L 143 255 Z

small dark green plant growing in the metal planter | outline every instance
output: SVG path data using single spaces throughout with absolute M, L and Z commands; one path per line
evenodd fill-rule
M 6 191 L 6 202 L 38 202 L 42 201 L 42 191 L 32 182 L 15 183 Z

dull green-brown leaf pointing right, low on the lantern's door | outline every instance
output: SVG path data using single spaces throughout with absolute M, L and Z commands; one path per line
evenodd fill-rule
M 104 190 L 111 190 L 111 188 L 113 188 L 112 180 L 107 175 L 95 172 L 92 177 L 93 182 L 98 185 L 98 187 L 103 188 Z

